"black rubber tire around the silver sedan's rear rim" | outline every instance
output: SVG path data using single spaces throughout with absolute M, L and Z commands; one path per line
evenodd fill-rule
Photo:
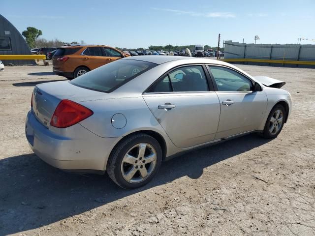
M 143 180 L 140 183 L 129 183 L 127 182 L 121 172 L 121 164 L 123 161 L 123 158 L 126 154 L 126 152 L 132 148 L 136 144 L 140 143 L 147 143 L 153 146 L 157 152 L 157 163 L 154 171 L 152 174 L 145 180 Z M 162 150 L 161 147 L 156 139 L 153 137 L 146 135 L 146 134 L 137 134 L 135 136 L 131 136 L 121 142 L 117 148 L 115 148 L 115 151 L 113 152 L 113 155 L 109 159 L 108 163 L 108 173 L 109 176 L 113 179 L 114 182 L 116 182 L 119 186 L 126 189 L 133 189 L 141 187 L 145 184 L 147 184 L 157 173 L 160 168 L 162 162 Z M 111 175 L 114 175 L 113 177 Z

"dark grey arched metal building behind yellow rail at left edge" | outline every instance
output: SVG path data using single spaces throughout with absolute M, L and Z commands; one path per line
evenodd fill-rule
M 0 55 L 32 55 L 31 50 L 21 33 L 2 15 L 0 15 Z M 34 60 L 2 60 L 14 65 L 35 65 Z

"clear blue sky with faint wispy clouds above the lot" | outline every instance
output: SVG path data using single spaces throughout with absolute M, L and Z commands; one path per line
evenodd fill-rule
M 315 39 L 315 0 L 4 0 L 0 14 L 20 32 L 137 48 L 218 44 L 221 40 L 296 43 Z M 315 41 L 301 41 L 315 44 Z

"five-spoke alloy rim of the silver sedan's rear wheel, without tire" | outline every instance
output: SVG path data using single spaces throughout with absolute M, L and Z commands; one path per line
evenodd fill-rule
M 157 152 L 150 144 L 140 143 L 130 148 L 122 161 L 121 172 L 130 183 L 147 179 L 157 165 Z

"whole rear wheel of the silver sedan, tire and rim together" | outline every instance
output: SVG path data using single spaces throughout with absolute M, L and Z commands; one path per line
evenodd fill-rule
M 138 133 L 123 139 L 113 149 L 107 173 L 122 188 L 139 188 L 158 173 L 161 162 L 162 149 L 158 141 L 150 135 Z

